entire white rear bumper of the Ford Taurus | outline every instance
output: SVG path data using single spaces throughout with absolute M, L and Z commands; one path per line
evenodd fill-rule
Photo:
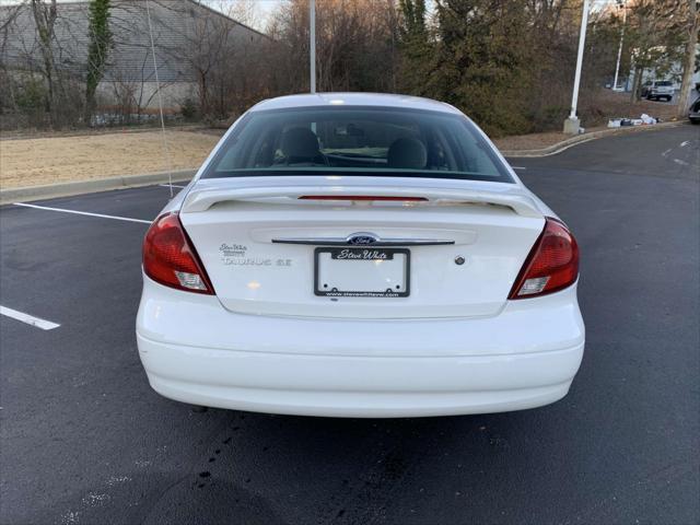
M 495 317 L 330 320 L 238 315 L 147 279 L 139 354 L 165 397 L 240 410 L 418 417 L 563 397 L 584 348 L 575 288 Z

